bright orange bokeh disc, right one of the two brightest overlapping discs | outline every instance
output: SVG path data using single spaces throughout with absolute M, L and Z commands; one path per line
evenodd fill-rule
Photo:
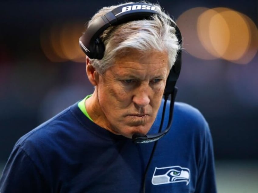
M 214 10 L 218 12 L 210 23 L 210 36 L 214 49 L 218 50 L 223 59 L 237 60 L 241 58 L 248 48 L 250 38 L 246 20 L 243 19 L 242 14 L 230 9 L 215 8 Z M 222 22 L 220 23 L 222 19 L 225 21 L 224 25 L 221 24 Z M 227 30 L 228 34 L 225 35 L 223 31 Z M 221 37 L 218 36 L 220 34 Z

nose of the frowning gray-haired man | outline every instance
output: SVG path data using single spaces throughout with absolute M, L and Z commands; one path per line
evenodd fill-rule
M 147 85 L 141 85 L 139 89 L 135 91 L 135 94 L 133 96 L 133 102 L 138 107 L 145 107 L 150 103 L 150 97 L 148 92 L 148 86 Z

